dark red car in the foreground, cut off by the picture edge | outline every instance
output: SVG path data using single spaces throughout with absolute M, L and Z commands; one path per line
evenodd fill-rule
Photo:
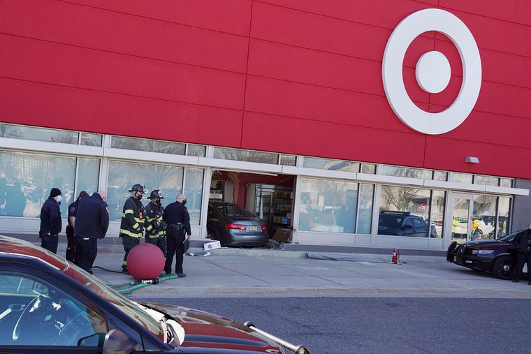
M 252 323 L 133 302 L 63 258 L 5 236 L 0 286 L 1 353 L 310 353 Z

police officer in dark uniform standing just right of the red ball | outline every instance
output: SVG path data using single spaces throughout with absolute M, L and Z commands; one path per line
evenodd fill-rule
M 191 237 L 190 215 L 188 214 L 188 209 L 184 207 L 187 203 L 186 196 L 184 194 L 177 194 L 176 199 L 177 201 L 166 207 L 162 216 L 163 221 L 166 221 L 166 239 L 168 242 L 168 253 L 164 271 L 166 274 L 171 274 L 173 253 L 175 253 L 175 273 L 177 273 L 177 277 L 184 278 L 187 275 L 182 271 L 183 244 L 184 241 Z M 188 237 L 186 237 L 187 234 Z

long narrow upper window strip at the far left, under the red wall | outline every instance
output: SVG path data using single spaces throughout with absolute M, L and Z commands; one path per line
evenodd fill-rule
M 0 124 L 0 137 L 12 139 L 37 140 L 45 142 L 62 142 L 63 144 L 78 144 L 79 133 L 76 131 L 59 131 L 57 129 L 40 128 L 36 126 L 17 126 L 15 124 Z

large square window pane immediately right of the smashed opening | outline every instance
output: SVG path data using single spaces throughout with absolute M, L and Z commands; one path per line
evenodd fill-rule
M 303 178 L 299 230 L 354 233 L 358 184 Z

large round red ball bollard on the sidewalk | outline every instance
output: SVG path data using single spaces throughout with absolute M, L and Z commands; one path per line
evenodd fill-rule
M 135 279 L 158 278 L 164 270 L 164 254 L 154 244 L 137 244 L 127 255 L 127 270 Z

